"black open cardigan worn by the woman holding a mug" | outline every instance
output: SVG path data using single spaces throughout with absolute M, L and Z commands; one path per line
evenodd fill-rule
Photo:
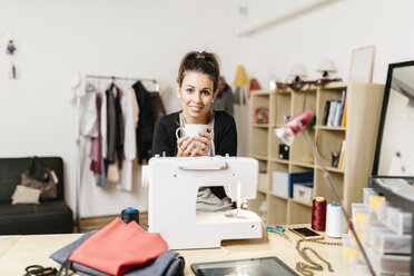
M 165 116 L 157 121 L 152 138 L 152 154 L 162 156 L 177 156 L 176 130 L 179 127 L 179 112 Z M 237 155 L 237 130 L 234 118 L 225 111 L 215 111 L 214 145 L 216 155 Z M 210 187 L 213 194 L 225 198 L 223 187 Z

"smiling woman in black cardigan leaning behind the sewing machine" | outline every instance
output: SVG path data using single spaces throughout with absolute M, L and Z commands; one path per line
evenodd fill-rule
M 154 155 L 197 157 L 236 156 L 237 130 L 233 117 L 224 111 L 210 111 L 218 92 L 219 65 L 210 52 L 188 52 L 181 60 L 177 78 L 177 96 L 181 111 L 161 118 L 155 127 Z M 208 125 L 207 132 L 177 140 L 176 130 L 185 124 Z M 226 197 L 223 187 L 211 187 L 218 198 Z

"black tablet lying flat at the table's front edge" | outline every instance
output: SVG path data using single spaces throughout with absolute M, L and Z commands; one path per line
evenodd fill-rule
M 197 263 L 191 265 L 196 276 L 290 276 L 298 275 L 276 257 L 235 259 L 213 263 Z

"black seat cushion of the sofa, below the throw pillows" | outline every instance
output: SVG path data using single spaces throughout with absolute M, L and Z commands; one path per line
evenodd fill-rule
M 72 210 L 63 200 L 40 205 L 0 203 L 0 235 L 72 233 Z

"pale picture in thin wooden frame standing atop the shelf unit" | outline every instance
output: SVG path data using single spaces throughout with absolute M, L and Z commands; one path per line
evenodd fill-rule
M 352 52 L 349 81 L 371 82 L 373 78 L 373 67 L 375 57 L 375 46 L 356 48 Z

